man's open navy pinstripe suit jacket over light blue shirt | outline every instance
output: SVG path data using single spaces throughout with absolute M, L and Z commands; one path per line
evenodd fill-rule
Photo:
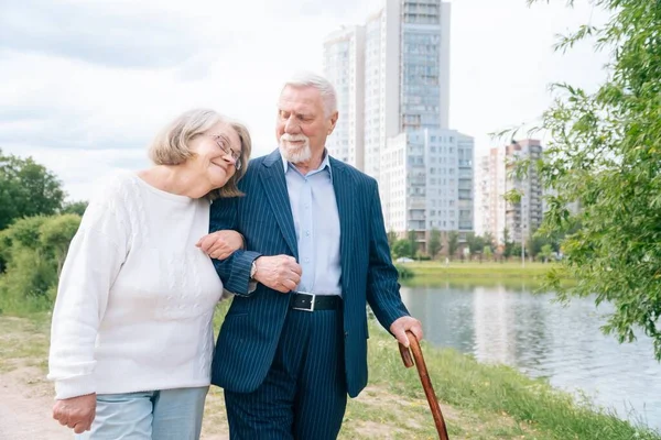
M 340 222 L 340 352 L 345 389 L 355 397 L 367 384 L 366 304 L 387 329 L 409 312 L 390 260 L 376 180 L 333 157 L 330 167 Z M 260 255 L 288 254 L 297 260 L 297 245 L 279 151 L 252 160 L 239 188 L 245 197 L 218 199 L 210 213 L 212 232 L 237 230 L 247 248 L 225 261 L 214 261 L 225 288 L 236 296 L 218 336 L 212 382 L 229 392 L 251 393 L 273 362 L 290 295 L 261 284 L 249 293 L 250 265 Z

